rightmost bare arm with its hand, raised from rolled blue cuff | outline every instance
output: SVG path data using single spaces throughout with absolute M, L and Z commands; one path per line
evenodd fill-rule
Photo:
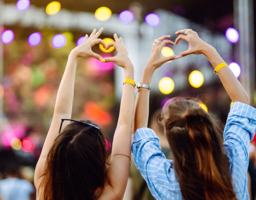
M 186 35 L 179 35 L 182 33 L 186 33 Z M 179 37 L 176 39 L 175 44 L 178 44 L 180 40 L 185 40 L 189 43 L 189 49 L 182 52 L 180 54 L 181 56 L 184 57 L 189 54 L 204 54 L 212 64 L 213 68 L 224 63 L 224 60 L 220 57 L 216 49 L 201 40 L 197 32 L 192 29 L 184 29 L 177 31 L 176 34 L 179 35 Z M 250 104 L 249 97 L 243 86 L 227 65 L 218 71 L 218 75 L 233 102 L 239 101 L 245 104 Z

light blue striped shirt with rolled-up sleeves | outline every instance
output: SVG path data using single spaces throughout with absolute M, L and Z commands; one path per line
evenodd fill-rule
M 232 104 L 223 134 L 223 150 L 229 159 L 230 174 L 238 199 L 249 199 L 247 168 L 249 144 L 255 134 L 255 124 L 255 108 L 241 102 Z M 141 128 L 136 131 L 132 153 L 136 167 L 156 199 L 182 200 L 173 160 L 165 158 L 159 138 L 153 130 Z

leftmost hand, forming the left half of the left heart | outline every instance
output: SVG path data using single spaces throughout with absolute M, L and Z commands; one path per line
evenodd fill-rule
M 96 59 L 100 59 L 101 56 L 97 53 L 94 53 L 92 51 L 92 47 L 95 44 L 102 44 L 102 46 L 104 48 L 106 48 L 106 44 L 102 39 L 98 39 L 98 37 L 100 36 L 100 34 L 103 32 L 103 28 L 101 28 L 98 32 L 96 29 L 94 29 L 91 33 L 90 36 L 88 36 L 86 34 L 85 38 L 84 38 L 84 42 L 83 44 L 77 46 L 76 48 L 74 48 L 71 53 L 75 54 L 75 56 L 77 58 L 82 57 L 82 58 L 86 58 L 86 57 L 94 57 Z

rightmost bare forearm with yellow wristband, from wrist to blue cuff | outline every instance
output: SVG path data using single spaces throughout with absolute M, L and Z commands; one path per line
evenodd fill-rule
M 224 60 L 218 54 L 216 49 L 211 46 L 208 46 L 205 49 L 205 56 L 208 58 L 212 66 L 215 68 L 220 63 L 223 63 Z M 249 104 L 249 98 L 247 93 L 245 92 L 243 86 L 235 77 L 233 72 L 230 70 L 229 67 L 223 67 L 218 71 L 218 75 L 220 80 L 227 91 L 228 95 L 230 96 L 233 102 L 239 101 L 245 104 Z

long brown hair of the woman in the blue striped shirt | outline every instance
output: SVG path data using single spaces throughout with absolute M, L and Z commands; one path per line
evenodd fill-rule
M 183 199 L 236 199 L 229 160 L 222 149 L 221 123 L 194 100 L 169 101 L 160 121 L 174 156 Z

